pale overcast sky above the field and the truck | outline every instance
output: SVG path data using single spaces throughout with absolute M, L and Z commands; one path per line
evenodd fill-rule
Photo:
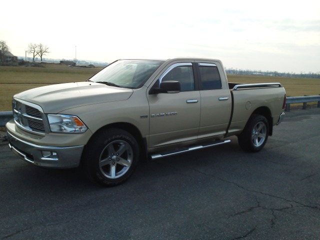
M 320 72 L 320 0 L 5 0 L 0 40 L 17 56 L 47 45 L 44 59 L 192 56 Z

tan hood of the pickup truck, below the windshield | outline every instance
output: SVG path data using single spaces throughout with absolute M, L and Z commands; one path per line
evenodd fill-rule
M 14 97 L 40 105 L 45 113 L 58 113 L 76 106 L 126 100 L 132 92 L 132 89 L 83 81 L 37 87 Z

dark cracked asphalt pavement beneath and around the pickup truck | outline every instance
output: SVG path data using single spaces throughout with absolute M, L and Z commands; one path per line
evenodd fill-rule
M 320 108 L 287 112 L 260 152 L 230 139 L 107 188 L 0 145 L 0 239 L 319 239 Z

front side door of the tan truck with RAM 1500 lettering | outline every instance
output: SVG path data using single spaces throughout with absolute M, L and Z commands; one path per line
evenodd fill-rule
M 155 84 L 177 80 L 181 91 L 147 95 L 150 112 L 149 147 L 197 138 L 201 99 L 194 76 L 194 64 L 191 61 L 172 62 L 160 73 Z

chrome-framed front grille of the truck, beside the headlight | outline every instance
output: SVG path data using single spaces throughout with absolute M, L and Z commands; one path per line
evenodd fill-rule
M 12 101 L 15 123 L 24 130 L 34 133 L 45 133 L 44 113 L 42 108 L 25 101 Z

